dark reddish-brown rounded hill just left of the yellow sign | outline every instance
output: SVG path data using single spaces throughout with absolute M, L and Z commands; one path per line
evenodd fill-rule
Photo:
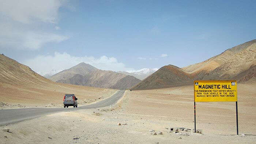
M 174 65 L 166 65 L 148 76 L 131 90 L 147 90 L 192 84 L 190 75 Z

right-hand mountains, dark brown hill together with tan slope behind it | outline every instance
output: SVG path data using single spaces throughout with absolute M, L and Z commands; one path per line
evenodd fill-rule
M 206 61 L 178 68 L 170 65 L 160 68 L 132 90 L 176 87 L 191 84 L 193 80 L 229 80 L 245 82 L 255 79 L 256 39 L 235 46 Z

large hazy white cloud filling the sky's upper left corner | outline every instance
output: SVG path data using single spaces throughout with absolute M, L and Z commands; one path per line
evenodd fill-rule
M 69 37 L 48 29 L 58 22 L 63 0 L 0 0 L 0 46 L 12 49 L 39 49 L 45 43 Z M 42 29 L 44 31 L 42 31 Z

